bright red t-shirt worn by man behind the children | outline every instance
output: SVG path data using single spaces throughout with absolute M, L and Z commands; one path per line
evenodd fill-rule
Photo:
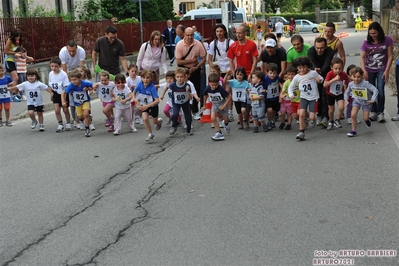
M 236 58 L 236 69 L 237 67 L 245 68 L 247 75 L 251 72 L 253 57 L 256 56 L 258 56 L 258 46 L 251 40 L 247 40 L 244 45 L 240 45 L 240 43 L 236 41 L 230 46 L 227 52 L 227 57 L 229 59 Z

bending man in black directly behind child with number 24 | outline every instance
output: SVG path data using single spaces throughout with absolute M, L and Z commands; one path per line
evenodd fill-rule
M 327 40 L 322 37 L 316 38 L 314 46 L 309 48 L 308 57 L 312 61 L 314 70 L 324 79 L 331 70 L 330 64 L 334 57 L 334 50 L 327 46 Z M 317 110 L 317 125 L 327 127 L 328 119 L 328 102 L 326 89 L 323 84 L 318 84 L 319 101 Z

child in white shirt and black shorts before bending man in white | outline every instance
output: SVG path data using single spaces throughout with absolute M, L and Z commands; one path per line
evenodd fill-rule
M 51 67 L 51 72 L 48 75 L 48 80 L 50 88 L 53 89 L 53 106 L 54 106 L 55 118 L 57 119 L 58 122 L 58 127 L 55 130 L 55 132 L 59 133 L 64 131 L 64 123 L 62 122 L 62 115 L 61 115 L 61 93 L 64 90 L 64 88 L 69 85 L 69 79 L 67 74 L 64 71 L 62 71 L 61 59 L 59 59 L 58 57 L 51 58 L 50 67 Z M 62 107 L 66 120 L 65 129 L 67 131 L 71 130 L 71 115 L 69 114 L 68 104 L 69 102 L 67 101 L 67 106 Z

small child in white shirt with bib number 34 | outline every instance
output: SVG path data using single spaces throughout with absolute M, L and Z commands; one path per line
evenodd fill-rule
M 93 85 L 93 89 L 97 91 L 98 98 L 101 99 L 103 106 L 103 113 L 107 118 L 105 120 L 105 127 L 108 127 L 108 132 L 114 131 L 113 108 L 111 92 L 115 87 L 115 83 L 110 81 L 110 74 L 108 71 L 102 71 L 99 74 L 100 82 Z M 114 77 L 115 79 L 115 77 Z

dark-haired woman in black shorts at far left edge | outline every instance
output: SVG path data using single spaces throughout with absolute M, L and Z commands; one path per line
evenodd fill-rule
M 19 47 L 22 47 L 23 39 L 21 38 L 21 32 L 17 29 L 11 31 L 10 37 L 7 39 L 6 46 L 4 47 L 4 65 L 6 66 L 6 71 L 10 74 L 10 77 L 14 81 L 14 84 L 18 84 L 18 73 L 15 64 L 15 51 Z M 21 99 L 19 95 L 14 94 L 12 100 L 15 102 L 20 102 Z

